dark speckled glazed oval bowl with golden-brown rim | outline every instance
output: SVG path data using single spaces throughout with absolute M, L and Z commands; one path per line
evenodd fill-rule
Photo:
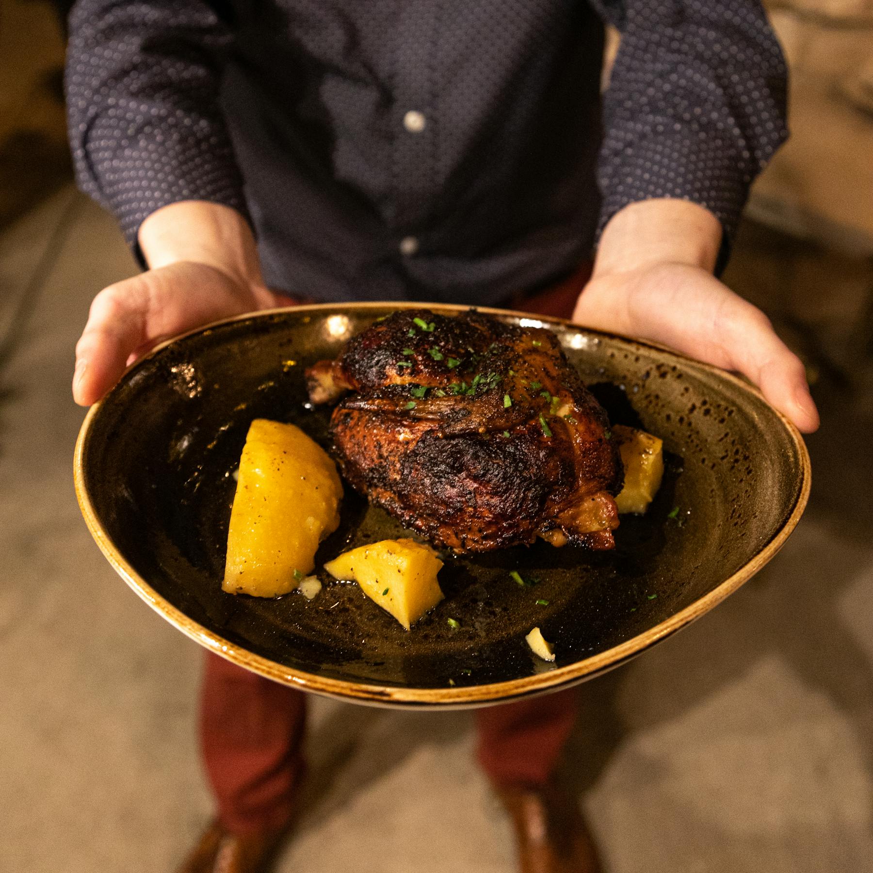
M 594 677 L 704 615 L 800 519 L 806 448 L 745 382 L 647 343 L 483 310 L 554 330 L 613 423 L 663 438 L 663 486 L 646 516 L 622 518 L 615 551 L 538 543 L 447 556 L 445 600 L 409 632 L 321 569 L 313 601 L 224 594 L 232 473 L 249 423 L 293 422 L 327 445 L 329 410 L 309 408 L 304 368 L 398 308 L 301 306 L 223 321 L 156 348 L 89 411 L 74 472 L 94 539 L 137 594 L 218 655 L 360 703 L 457 708 L 525 697 Z M 318 566 L 400 534 L 347 486 Z M 520 588 L 512 570 L 539 581 Z M 528 649 L 534 626 L 554 644 L 555 663 Z

